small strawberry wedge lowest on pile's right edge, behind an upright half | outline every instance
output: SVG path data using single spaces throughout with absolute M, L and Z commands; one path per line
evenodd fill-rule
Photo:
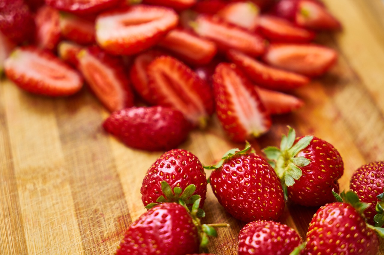
M 304 101 L 296 96 L 257 86 L 255 86 L 255 90 L 270 114 L 290 113 L 304 106 Z

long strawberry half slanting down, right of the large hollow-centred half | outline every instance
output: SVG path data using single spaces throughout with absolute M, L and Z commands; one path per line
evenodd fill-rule
M 219 16 L 201 14 L 193 25 L 195 33 L 214 41 L 223 51 L 237 49 L 251 56 L 265 52 L 265 41 L 257 34 L 223 21 Z

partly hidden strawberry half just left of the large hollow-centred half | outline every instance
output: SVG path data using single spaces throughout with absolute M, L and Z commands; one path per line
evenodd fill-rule
M 78 44 L 95 43 L 95 23 L 69 13 L 60 13 L 61 35 Z

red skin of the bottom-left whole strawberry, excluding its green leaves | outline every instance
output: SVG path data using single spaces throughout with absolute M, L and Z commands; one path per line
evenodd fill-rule
M 142 214 L 126 230 L 116 255 L 185 255 L 199 252 L 199 235 L 187 210 L 164 203 Z

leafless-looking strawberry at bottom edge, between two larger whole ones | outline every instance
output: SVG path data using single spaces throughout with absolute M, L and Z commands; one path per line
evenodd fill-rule
M 253 221 L 238 235 L 238 255 L 290 255 L 301 244 L 301 238 L 285 224 L 274 221 Z

